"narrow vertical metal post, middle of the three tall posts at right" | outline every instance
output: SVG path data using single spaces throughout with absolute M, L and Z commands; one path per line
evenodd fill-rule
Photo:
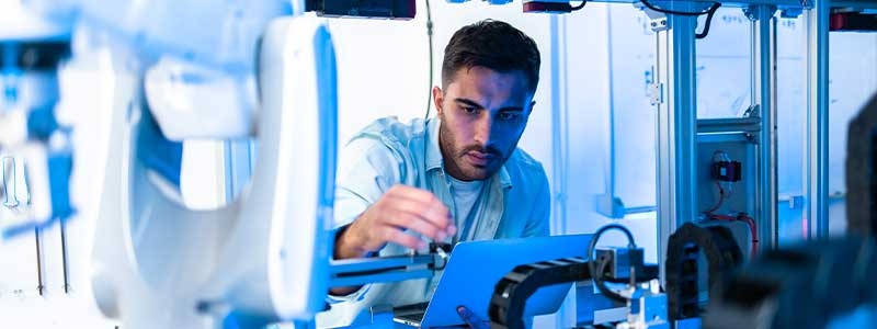
M 752 103 L 759 105 L 759 168 L 756 214 L 760 249 L 777 246 L 776 178 L 776 7 L 752 5 L 747 16 L 752 20 Z

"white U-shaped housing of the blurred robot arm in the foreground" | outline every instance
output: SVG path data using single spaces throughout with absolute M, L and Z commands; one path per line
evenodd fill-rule
M 138 160 L 149 151 L 137 143 L 147 115 L 161 124 L 172 111 L 113 113 L 92 285 L 101 311 L 125 328 L 217 328 L 229 311 L 310 319 L 323 306 L 337 145 L 331 36 L 312 16 L 277 19 L 260 54 L 253 175 L 226 207 L 187 209 Z

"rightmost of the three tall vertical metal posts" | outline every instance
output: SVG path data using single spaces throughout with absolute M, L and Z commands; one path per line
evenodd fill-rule
M 807 11 L 807 236 L 829 236 L 829 0 Z

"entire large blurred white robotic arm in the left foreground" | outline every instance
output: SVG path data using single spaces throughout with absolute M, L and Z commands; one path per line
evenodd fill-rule
M 133 99 L 105 121 L 106 168 L 91 179 L 102 183 L 91 269 L 101 311 L 125 328 L 216 328 L 321 310 L 337 144 L 334 56 L 321 20 L 276 19 L 304 9 L 288 1 L 29 4 L 138 55 L 113 58 L 139 78 L 115 86 Z M 168 193 L 179 188 L 172 140 L 187 138 L 257 140 L 253 177 L 228 206 L 193 211 Z

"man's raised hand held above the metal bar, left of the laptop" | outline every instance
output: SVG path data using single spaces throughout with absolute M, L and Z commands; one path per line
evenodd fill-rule
M 334 258 L 361 258 L 387 242 L 423 249 L 426 241 L 406 230 L 444 241 L 457 231 L 451 219 L 447 207 L 431 192 L 395 185 L 337 237 Z

